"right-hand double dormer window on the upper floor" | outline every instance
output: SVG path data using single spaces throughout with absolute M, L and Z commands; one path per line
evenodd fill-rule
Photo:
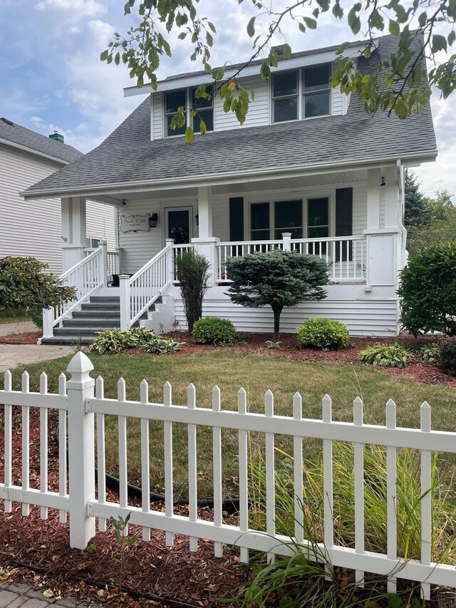
M 272 76 L 272 122 L 331 113 L 331 66 L 312 66 Z

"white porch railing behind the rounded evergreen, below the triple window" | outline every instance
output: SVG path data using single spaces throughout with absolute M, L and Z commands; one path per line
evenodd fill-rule
M 216 244 L 217 281 L 229 281 L 227 259 L 255 252 L 269 252 L 273 249 L 297 251 L 324 259 L 329 268 L 329 281 L 366 281 L 366 237 L 325 237 L 323 239 L 290 239 L 284 235 L 281 240 L 237 241 Z

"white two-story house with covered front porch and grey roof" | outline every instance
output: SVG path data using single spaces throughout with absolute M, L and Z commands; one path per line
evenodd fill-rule
M 373 71 L 378 56 L 390 56 L 397 44 L 394 36 L 378 38 L 358 67 Z M 347 52 L 358 57 L 361 48 L 353 43 Z M 225 295 L 224 262 L 274 247 L 316 254 L 329 264 L 327 299 L 284 310 L 283 331 L 326 316 L 348 324 L 354 336 L 397 334 L 404 169 L 435 160 L 432 115 L 429 105 L 407 120 L 366 115 L 356 96 L 329 86 L 336 51 L 295 53 L 272 69 L 270 81 L 258 76 L 258 62 L 250 65 L 242 81 L 255 98 L 244 125 L 224 113 L 215 96 L 198 108 L 209 133 L 196 135 L 190 146 L 183 129 L 169 125 L 185 105 L 188 123 L 197 127 L 190 109 L 197 105 L 195 88 L 207 81 L 204 72 L 166 78 L 157 92 L 128 88 L 125 95 L 147 99 L 98 148 L 24 192 L 26 200 L 62 197 L 64 209 L 73 201 L 66 230 L 80 257 L 86 197 L 118 209 L 120 271 L 134 274 L 120 279 L 120 289 L 108 288 L 103 252 L 81 262 L 92 280 L 78 285 L 78 301 L 67 311 L 46 314 L 45 336 L 89 340 L 97 328 L 125 329 L 147 316 L 157 329 L 185 328 L 173 282 L 173 259 L 185 248 L 203 252 L 212 264 L 204 315 L 228 317 L 243 331 L 271 331 L 269 308 L 242 308 Z

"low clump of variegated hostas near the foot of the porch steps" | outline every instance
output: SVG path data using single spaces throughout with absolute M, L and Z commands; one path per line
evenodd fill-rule
M 167 354 L 180 350 L 181 342 L 172 338 L 157 336 L 152 329 L 134 327 L 129 331 L 106 329 L 100 331 L 98 338 L 90 344 L 89 349 L 103 355 L 105 353 L 121 353 L 125 349 L 143 349 L 146 353 Z

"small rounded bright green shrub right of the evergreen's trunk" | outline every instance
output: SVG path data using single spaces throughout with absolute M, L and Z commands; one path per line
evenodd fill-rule
M 339 350 L 350 346 L 347 326 L 334 319 L 308 319 L 296 330 L 300 349 Z

